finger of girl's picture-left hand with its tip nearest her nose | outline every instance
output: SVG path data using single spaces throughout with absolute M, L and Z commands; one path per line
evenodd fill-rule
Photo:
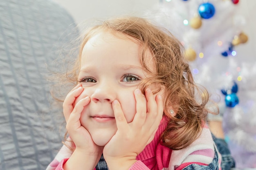
M 74 107 L 72 113 L 70 114 L 69 119 L 67 120 L 66 128 L 71 131 L 72 129 L 77 129 L 81 126 L 80 117 L 81 113 L 86 105 L 90 103 L 90 97 L 87 96 L 84 99 L 81 99 L 76 106 Z

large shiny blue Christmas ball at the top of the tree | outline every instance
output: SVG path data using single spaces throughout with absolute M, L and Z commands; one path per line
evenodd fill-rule
M 211 4 L 211 3 L 208 3 L 208 2 L 202 3 L 198 7 L 198 12 L 202 18 L 209 19 L 209 18 L 213 17 L 213 15 L 215 13 L 215 8 L 214 8 L 213 4 Z

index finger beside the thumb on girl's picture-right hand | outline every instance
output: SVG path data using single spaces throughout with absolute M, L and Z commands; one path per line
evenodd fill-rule
M 147 100 L 139 89 L 134 91 L 136 99 L 136 114 L 133 119 L 133 123 L 139 127 L 143 126 L 147 115 Z

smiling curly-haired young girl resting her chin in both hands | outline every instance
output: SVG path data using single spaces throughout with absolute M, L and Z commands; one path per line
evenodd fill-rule
M 63 102 L 69 138 L 47 170 L 234 165 L 207 128 L 208 93 L 168 31 L 141 18 L 107 20 L 87 31 L 67 74 L 77 84 Z

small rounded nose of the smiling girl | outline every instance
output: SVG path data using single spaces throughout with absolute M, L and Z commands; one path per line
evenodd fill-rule
M 94 102 L 112 103 L 116 98 L 115 89 L 110 84 L 98 84 L 95 91 L 91 95 L 91 100 Z

